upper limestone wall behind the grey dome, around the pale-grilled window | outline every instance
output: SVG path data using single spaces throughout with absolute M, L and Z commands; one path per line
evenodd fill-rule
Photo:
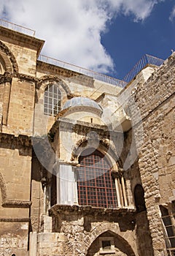
M 109 99 L 111 100 L 112 104 L 115 105 L 116 98 L 114 95 L 117 95 L 122 90 L 118 86 L 112 86 L 109 83 L 94 80 L 86 75 L 63 69 L 61 67 L 55 67 L 41 61 L 37 61 L 36 78 L 38 79 L 38 82 L 36 86 L 36 102 L 34 108 L 35 136 L 46 135 L 52 127 L 52 124 L 55 122 L 55 117 L 44 114 L 44 89 L 49 83 L 58 84 L 62 94 L 62 106 L 71 97 L 82 96 L 96 100 L 98 97 L 101 97 L 101 94 L 109 94 Z M 106 102 L 100 102 L 100 104 L 101 103 L 102 107 L 104 105 L 104 107 L 107 108 Z M 78 118 L 80 118 L 80 114 L 81 113 L 79 113 Z M 86 117 L 87 121 L 90 122 L 90 115 L 88 116 L 86 114 Z M 101 122 L 101 119 L 96 118 L 93 113 L 92 117 L 98 124 Z M 104 120 L 105 118 L 103 121 Z

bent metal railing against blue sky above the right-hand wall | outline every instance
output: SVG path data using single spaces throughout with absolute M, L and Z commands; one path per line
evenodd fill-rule
M 125 75 L 125 78 L 123 78 L 123 80 L 126 83 L 129 83 L 131 80 L 133 80 L 133 78 L 135 78 L 135 76 L 141 71 L 141 69 L 144 69 L 144 67 L 147 66 L 147 64 L 151 64 L 154 66 L 158 66 L 160 67 L 160 65 L 162 65 L 164 62 L 163 59 L 159 59 L 156 58 L 154 56 L 150 56 L 148 54 L 145 54 L 137 63 L 136 65 L 133 67 L 133 69 L 131 69 L 130 72 L 128 72 L 127 75 Z

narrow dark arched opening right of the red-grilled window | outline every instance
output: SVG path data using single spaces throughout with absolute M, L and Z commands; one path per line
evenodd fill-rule
M 137 211 L 146 211 L 145 201 L 144 201 L 144 189 L 140 184 L 137 184 L 134 189 L 134 199 Z

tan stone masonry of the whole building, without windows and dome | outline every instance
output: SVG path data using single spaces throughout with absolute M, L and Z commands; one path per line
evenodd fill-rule
M 98 238 L 110 236 L 114 238 L 113 255 L 166 255 L 159 206 L 168 208 L 175 200 L 175 54 L 155 72 L 145 69 L 122 91 L 86 75 L 36 61 L 42 40 L 8 29 L 1 31 L 0 255 L 97 256 Z M 93 116 L 90 108 L 77 108 L 70 116 L 61 113 L 56 119 L 44 115 L 44 89 L 49 83 L 59 84 L 62 105 L 72 97 L 96 100 L 104 108 L 104 119 Z M 126 119 L 120 116 L 120 107 L 125 103 L 130 105 L 131 116 L 123 141 L 116 123 Z M 60 158 L 59 164 L 69 166 L 73 172 L 83 143 L 92 140 L 90 132 L 99 135 L 101 151 L 106 153 L 105 146 L 111 150 L 108 159 L 113 169 L 124 170 L 128 206 L 51 208 L 52 197 L 53 204 L 55 199 L 58 202 L 52 170 L 56 170 Z M 120 143 L 123 151 L 118 152 Z M 37 147 L 41 155 L 37 155 Z M 115 159 L 118 153 L 120 159 Z M 133 207 L 137 184 L 144 188 L 147 211 Z

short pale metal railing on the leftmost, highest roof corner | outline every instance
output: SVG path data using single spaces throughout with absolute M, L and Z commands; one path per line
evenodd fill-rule
M 28 36 L 34 37 L 35 36 L 35 31 L 32 29 L 28 29 L 24 26 L 16 25 L 15 23 L 9 22 L 7 20 L 1 20 L 0 19 L 0 26 L 3 26 L 4 28 L 7 29 L 12 29 L 14 31 L 27 34 Z

